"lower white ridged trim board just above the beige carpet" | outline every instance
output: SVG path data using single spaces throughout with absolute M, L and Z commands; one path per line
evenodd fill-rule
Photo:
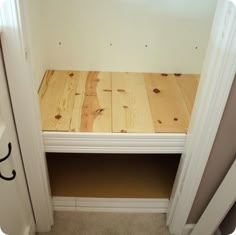
M 166 213 L 169 199 L 53 197 L 55 211 Z

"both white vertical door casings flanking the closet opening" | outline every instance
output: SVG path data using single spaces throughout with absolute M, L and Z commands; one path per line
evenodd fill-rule
M 234 1 L 234 0 L 232 0 Z M 217 129 L 227 102 L 236 68 L 235 15 L 219 0 L 202 79 L 191 117 L 184 154 L 173 188 L 168 213 L 172 233 L 181 234 L 186 224 Z M 12 28 L 3 27 L 3 47 L 17 132 L 24 160 L 38 231 L 53 222 L 51 194 L 45 163 L 37 94 L 33 85 L 24 0 L 7 0 Z M 4 20 L 4 19 L 3 19 Z M 235 20 L 235 18 L 234 18 Z M 224 32 L 224 35 L 223 35 Z

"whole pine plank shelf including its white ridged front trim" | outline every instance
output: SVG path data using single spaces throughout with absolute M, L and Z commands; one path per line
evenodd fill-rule
M 198 77 L 49 70 L 39 89 L 46 151 L 179 153 Z

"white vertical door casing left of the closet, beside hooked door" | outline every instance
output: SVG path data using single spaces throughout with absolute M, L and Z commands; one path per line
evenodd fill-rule
M 9 92 L 24 163 L 36 229 L 47 232 L 53 223 L 51 193 L 41 136 L 37 95 L 33 86 L 31 64 L 27 60 L 28 44 L 25 1 L 3 3 L 2 50 Z

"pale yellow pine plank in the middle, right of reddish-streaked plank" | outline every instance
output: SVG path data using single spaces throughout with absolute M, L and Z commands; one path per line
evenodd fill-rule
M 112 73 L 112 131 L 154 132 L 141 73 Z

